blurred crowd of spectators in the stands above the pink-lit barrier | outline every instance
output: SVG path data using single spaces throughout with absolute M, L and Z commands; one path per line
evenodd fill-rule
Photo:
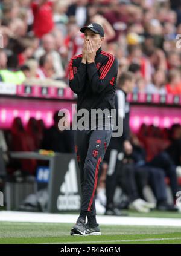
M 119 75 L 135 73 L 135 91 L 180 94 L 181 3 L 167 0 L 0 1 L 0 76 L 67 79 L 89 22 L 103 25 L 103 50 L 118 57 Z M 1 42 L 2 44 L 2 42 Z

